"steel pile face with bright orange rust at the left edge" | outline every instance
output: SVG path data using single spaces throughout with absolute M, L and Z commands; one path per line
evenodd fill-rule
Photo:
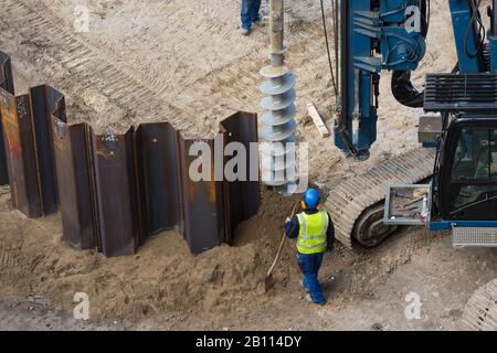
M 14 97 L 2 88 L 0 99 L 12 205 L 29 217 L 39 217 L 43 212 L 30 99 L 28 95 Z

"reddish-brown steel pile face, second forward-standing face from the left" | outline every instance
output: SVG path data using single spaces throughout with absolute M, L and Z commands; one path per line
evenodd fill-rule
M 67 126 L 52 117 L 63 238 L 76 249 L 97 246 L 88 169 L 86 124 Z

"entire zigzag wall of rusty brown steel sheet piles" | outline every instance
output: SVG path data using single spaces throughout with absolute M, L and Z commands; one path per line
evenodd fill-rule
M 189 175 L 197 159 L 190 147 L 198 142 L 212 147 L 211 170 L 216 158 L 224 169 L 230 142 L 245 147 L 246 170 L 251 159 L 258 165 L 257 151 L 250 149 L 257 141 L 254 114 L 223 120 L 218 139 L 186 139 L 168 122 L 96 135 L 88 124 L 67 124 L 64 96 L 50 86 L 14 96 L 10 60 L 1 52 L 0 65 L 0 181 L 9 181 L 8 171 L 12 205 L 29 217 L 60 210 L 64 240 L 74 248 L 129 255 L 148 236 L 178 229 L 199 254 L 232 244 L 236 225 L 256 214 L 258 181 Z

